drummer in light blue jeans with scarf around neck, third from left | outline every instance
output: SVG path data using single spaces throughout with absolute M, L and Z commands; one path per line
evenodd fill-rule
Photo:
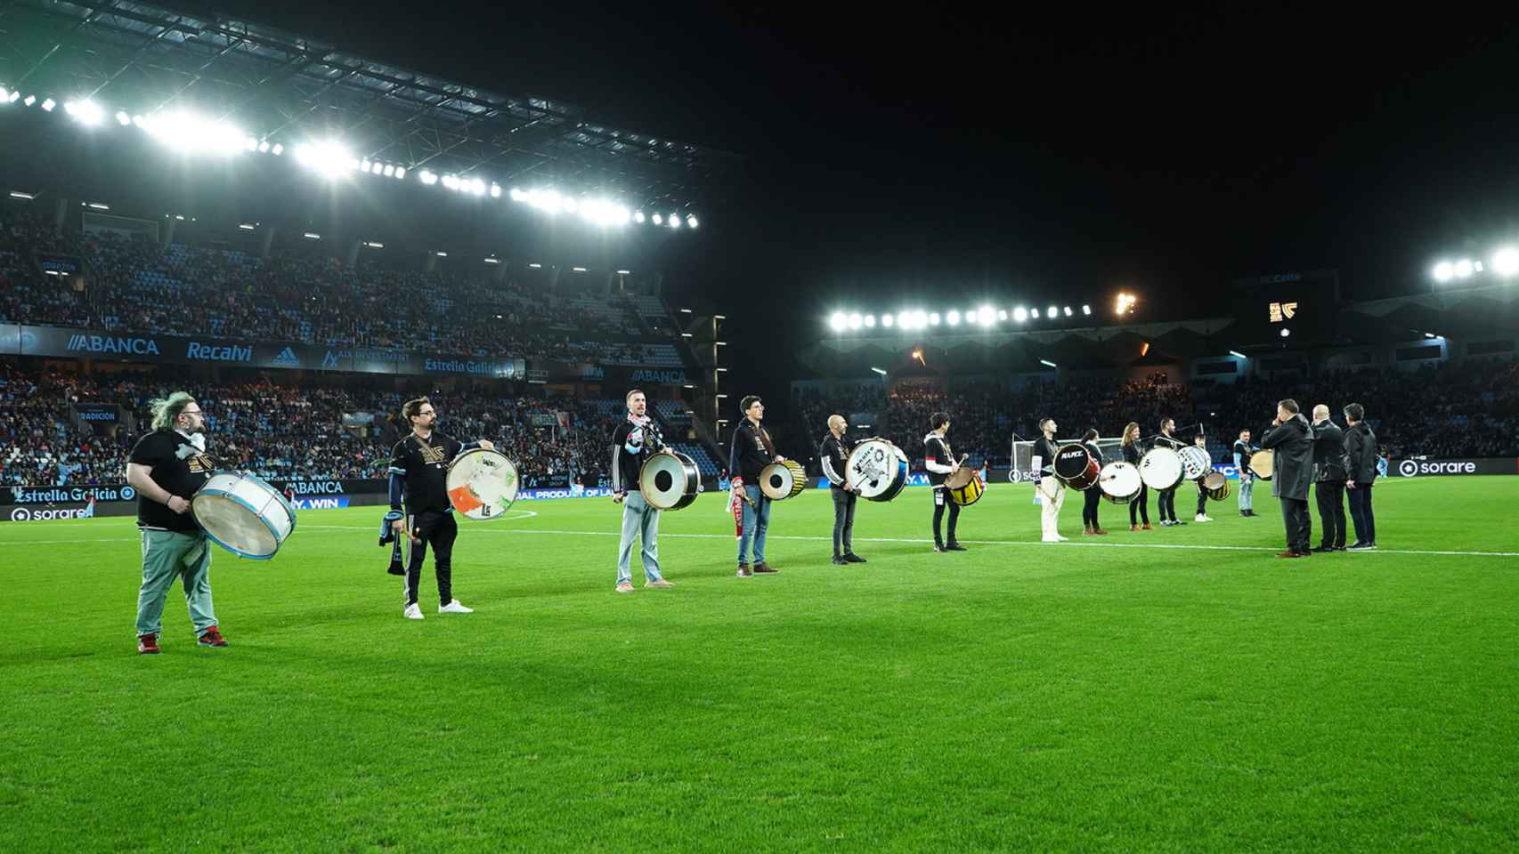
M 655 452 L 665 447 L 659 425 L 649 417 L 649 402 L 641 388 L 623 396 L 627 417 L 612 434 L 612 501 L 623 505 L 623 537 L 617 543 L 617 592 L 633 592 L 633 538 L 641 537 L 644 587 L 674 587 L 659 575 L 659 508 L 649 507 L 638 490 L 638 475 Z M 632 488 L 629 488 L 632 487 Z

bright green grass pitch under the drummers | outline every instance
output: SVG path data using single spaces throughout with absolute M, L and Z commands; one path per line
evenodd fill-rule
M 307 511 L 216 552 L 229 648 L 176 590 L 158 657 L 131 519 L 5 523 L 0 851 L 1514 851 L 1519 478 L 1385 482 L 1379 552 L 1297 561 L 1256 496 L 1042 545 L 995 484 L 939 555 L 911 488 L 838 567 L 808 491 L 752 579 L 705 496 L 626 596 L 617 507 L 519 502 L 421 622 L 380 508 Z

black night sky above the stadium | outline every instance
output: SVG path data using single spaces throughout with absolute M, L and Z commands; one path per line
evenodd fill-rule
M 1195 317 L 1230 278 L 1309 267 L 1338 267 L 1347 299 L 1390 296 L 1428 287 L 1443 252 L 1519 235 L 1502 21 L 828 6 L 217 5 L 743 155 L 671 264 L 766 287 L 746 308 L 807 334 L 832 308 L 936 294 L 1124 287 Z

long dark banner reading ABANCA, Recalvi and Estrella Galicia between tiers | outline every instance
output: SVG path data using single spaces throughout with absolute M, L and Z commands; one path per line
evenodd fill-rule
M 433 356 L 374 347 L 324 347 L 321 344 L 243 341 L 204 335 L 141 335 L 59 326 L 0 325 L 0 353 L 418 376 L 466 375 L 498 379 L 521 379 L 527 373 L 523 359 Z

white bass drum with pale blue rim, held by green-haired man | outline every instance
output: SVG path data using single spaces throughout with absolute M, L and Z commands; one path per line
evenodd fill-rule
M 263 478 L 217 472 L 190 496 L 207 538 L 242 558 L 269 560 L 295 531 L 295 508 Z

